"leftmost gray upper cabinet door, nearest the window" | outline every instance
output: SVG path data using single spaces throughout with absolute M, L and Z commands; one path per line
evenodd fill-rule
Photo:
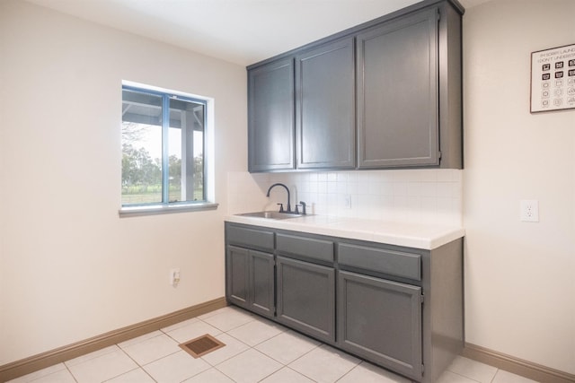
M 248 170 L 293 170 L 295 149 L 293 58 L 248 72 Z

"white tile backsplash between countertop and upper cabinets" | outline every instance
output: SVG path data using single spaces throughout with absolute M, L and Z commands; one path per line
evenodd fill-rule
M 308 213 L 393 222 L 462 224 L 462 170 L 228 173 L 228 213 L 276 210 L 299 201 Z

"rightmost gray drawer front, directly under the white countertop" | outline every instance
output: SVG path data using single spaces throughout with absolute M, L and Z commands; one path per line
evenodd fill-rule
M 338 260 L 340 265 L 421 280 L 420 254 L 341 243 Z

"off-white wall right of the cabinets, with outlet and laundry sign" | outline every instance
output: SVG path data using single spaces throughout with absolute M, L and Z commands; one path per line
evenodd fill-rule
M 529 113 L 531 52 L 575 43 L 572 0 L 464 14 L 465 336 L 575 373 L 575 110 Z M 539 200 L 540 222 L 519 222 Z

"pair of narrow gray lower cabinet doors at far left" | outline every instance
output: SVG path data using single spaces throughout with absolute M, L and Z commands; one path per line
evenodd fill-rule
M 227 299 L 265 317 L 274 316 L 274 259 L 272 254 L 228 246 Z

